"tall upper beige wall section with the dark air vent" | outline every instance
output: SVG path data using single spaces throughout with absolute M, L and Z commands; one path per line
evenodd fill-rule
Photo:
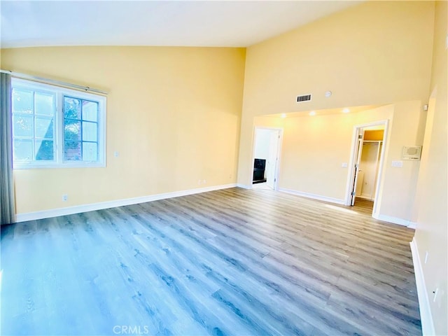
M 426 104 L 433 20 L 432 1 L 369 1 L 248 48 L 238 182 L 250 182 L 254 116 Z M 311 102 L 297 105 L 307 93 Z

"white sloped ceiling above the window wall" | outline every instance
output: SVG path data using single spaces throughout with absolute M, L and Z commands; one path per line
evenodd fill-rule
M 0 0 L 0 46 L 246 47 L 360 2 Z

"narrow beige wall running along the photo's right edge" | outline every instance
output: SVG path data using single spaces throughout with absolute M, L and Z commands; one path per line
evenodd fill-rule
M 448 335 L 447 1 L 436 1 L 433 75 L 416 199 L 418 246 L 436 335 Z M 424 263 L 426 252 L 428 260 Z M 438 290 L 437 290 L 438 288 Z M 437 297 L 434 294 L 437 290 Z

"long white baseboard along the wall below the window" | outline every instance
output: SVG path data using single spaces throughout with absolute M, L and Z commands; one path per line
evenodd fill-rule
M 28 212 L 25 214 L 15 215 L 15 221 L 16 221 L 16 223 L 19 223 L 19 222 L 26 222 L 26 221 L 35 221 L 37 219 L 43 219 L 43 218 L 80 214 L 81 212 L 109 209 L 109 208 L 115 208 L 115 207 L 123 207 L 124 205 L 139 204 L 139 203 L 144 203 L 144 202 L 165 200 L 167 198 L 173 198 L 173 197 L 180 197 L 180 196 L 193 195 L 193 194 L 199 194 L 199 193 L 207 193 L 208 191 L 234 188 L 236 186 L 237 186 L 236 183 L 230 183 L 230 184 L 225 184 L 225 185 L 221 185 L 221 186 L 211 186 L 211 187 L 205 187 L 205 188 L 174 191 L 172 193 L 163 193 L 163 194 L 157 194 L 157 195 L 133 197 L 133 198 L 127 198 L 124 200 L 114 200 L 114 201 L 100 202 L 100 203 L 93 203 L 93 204 L 76 205 L 74 207 Z

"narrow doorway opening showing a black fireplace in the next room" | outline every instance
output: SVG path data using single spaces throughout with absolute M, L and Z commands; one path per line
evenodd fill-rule
M 282 130 L 255 127 L 252 188 L 277 190 Z

